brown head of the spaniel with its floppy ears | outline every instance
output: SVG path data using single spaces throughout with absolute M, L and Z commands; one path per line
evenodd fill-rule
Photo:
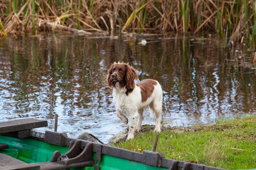
M 126 89 L 135 88 L 135 79 L 138 79 L 136 70 L 126 63 L 113 63 L 108 71 L 107 82 L 108 86 L 119 86 L 119 89 L 126 87 Z

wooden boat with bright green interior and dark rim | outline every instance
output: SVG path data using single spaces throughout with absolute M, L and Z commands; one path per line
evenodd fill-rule
M 69 138 L 66 133 L 39 132 L 47 121 L 33 118 L 0 123 L 0 170 L 29 169 L 170 169 L 220 168 L 166 159 L 151 151 L 128 151 Z

